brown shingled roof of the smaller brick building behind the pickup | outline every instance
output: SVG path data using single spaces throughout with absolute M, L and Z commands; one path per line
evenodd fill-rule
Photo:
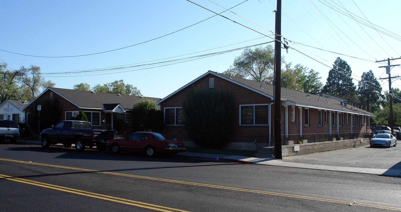
M 150 99 L 156 102 L 160 100 L 160 98 L 90 92 L 90 91 L 72 90 L 65 88 L 47 88 L 45 91 L 42 92 L 42 94 L 47 92 L 47 90 L 51 90 L 56 94 L 59 94 L 69 102 L 75 104 L 78 108 L 85 108 L 85 109 L 106 110 L 110 109 L 110 107 L 117 106 L 118 104 L 120 104 L 122 107 L 124 107 L 125 110 L 131 110 L 132 106 L 134 106 L 134 103 L 140 100 Z

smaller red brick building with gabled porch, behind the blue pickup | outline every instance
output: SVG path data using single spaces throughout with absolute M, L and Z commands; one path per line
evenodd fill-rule
M 57 120 L 53 120 L 54 124 L 61 120 L 71 120 L 71 117 L 77 115 L 79 110 L 83 110 L 94 129 L 106 130 L 113 129 L 113 114 L 119 119 L 131 122 L 129 111 L 132 110 L 135 102 L 143 99 L 160 100 L 160 98 L 142 96 L 47 88 L 23 108 L 26 114 L 25 120 L 29 119 L 29 113 L 37 112 L 36 102 L 45 99 L 59 102 L 61 113 Z

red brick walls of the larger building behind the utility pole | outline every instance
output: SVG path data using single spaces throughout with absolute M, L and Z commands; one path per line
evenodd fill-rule
M 267 136 L 269 135 L 269 126 L 241 126 L 239 125 L 239 107 L 240 105 L 253 105 L 253 104 L 270 104 L 272 101 L 270 98 L 258 94 L 257 92 L 253 92 L 247 88 L 239 86 L 237 84 L 231 83 L 228 80 L 222 79 L 220 77 L 214 76 L 212 74 L 208 74 L 207 76 L 201 78 L 200 80 L 194 82 L 193 84 L 189 85 L 188 87 L 184 88 L 180 92 L 174 94 L 170 98 L 164 100 L 160 105 L 160 110 L 164 113 L 164 108 L 170 107 L 181 107 L 182 101 L 193 89 L 204 89 L 209 88 L 209 78 L 214 78 L 215 80 L 215 87 L 210 89 L 223 89 L 229 90 L 233 92 L 233 99 L 234 99 L 234 109 L 235 109 L 235 117 L 234 117 L 234 130 L 233 136 L 231 137 L 230 142 L 251 142 L 251 139 L 256 139 L 259 136 Z M 273 127 L 273 105 L 270 106 L 271 108 L 271 127 L 270 127 L 270 134 L 273 135 L 274 127 Z M 288 106 L 288 134 L 299 134 L 299 110 L 298 106 L 295 107 L 295 122 L 292 122 L 292 107 Z M 304 109 L 304 108 L 302 108 Z M 302 133 L 303 134 L 315 134 L 315 133 L 329 133 L 330 131 L 330 113 L 327 112 L 327 123 L 324 122 L 324 113 L 326 110 L 322 110 L 322 126 L 318 126 L 318 109 L 309 108 L 309 126 L 305 126 L 305 119 L 304 119 L 304 110 L 302 111 Z M 282 127 L 281 131 L 284 134 L 284 109 L 281 113 L 282 117 Z M 356 117 L 356 116 L 355 116 Z M 361 117 L 361 116 L 360 116 Z M 360 122 L 362 123 L 362 121 Z M 346 115 L 344 116 L 344 124 L 339 128 L 339 131 L 351 131 L 349 124 L 346 124 Z M 353 128 L 356 134 L 363 135 L 366 131 L 366 126 L 355 127 Z M 164 126 L 162 129 L 164 134 L 167 134 L 171 137 L 175 137 L 178 140 L 190 140 L 188 137 L 184 126 Z M 332 132 L 337 132 L 337 127 L 332 127 Z

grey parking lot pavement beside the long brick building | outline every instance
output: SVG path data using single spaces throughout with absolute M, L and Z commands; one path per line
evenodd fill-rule
M 284 157 L 282 161 L 326 166 L 401 170 L 401 146 L 382 148 L 367 145 L 329 152 Z

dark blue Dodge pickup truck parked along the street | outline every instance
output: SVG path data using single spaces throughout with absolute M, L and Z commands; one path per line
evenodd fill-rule
M 86 146 L 96 146 L 97 150 L 103 151 L 107 141 L 113 138 L 113 130 L 93 130 L 91 123 L 84 121 L 61 121 L 41 132 L 43 148 L 49 148 L 50 144 L 63 144 L 70 148 L 75 144 L 79 151 L 85 150 Z

